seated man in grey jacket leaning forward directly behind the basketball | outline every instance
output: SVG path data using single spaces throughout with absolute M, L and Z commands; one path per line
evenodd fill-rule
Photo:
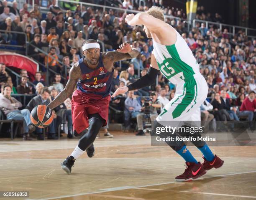
M 28 105 L 26 106 L 26 109 L 32 111 L 32 109 L 38 105 L 48 105 L 50 103 L 50 91 L 45 87 L 41 89 L 41 94 L 38 94 L 37 96 L 33 97 L 31 101 L 29 101 Z M 56 114 L 53 111 L 54 119 L 56 119 Z M 55 129 L 56 123 L 53 121 L 49 125 L 49 133 L 48 133 L 48 139 L 58 139 L 56 136 L 56 129 Z M 43 140 L 43 129 L 36 127 L 36 133 L 38 134 L 37 139 Z

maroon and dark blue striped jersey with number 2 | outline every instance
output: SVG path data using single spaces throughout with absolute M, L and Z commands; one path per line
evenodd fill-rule
M 77 89 L 90 96 L 90 99 L 102 99 L 110 94 L 113 73 L 109 72 L 102 62 L 100 55 L 99 64 L 92 70 L 84 63 L 84 58 L 79 59 L 79 66 L 82 72 L 82 79 L 77 82 Z

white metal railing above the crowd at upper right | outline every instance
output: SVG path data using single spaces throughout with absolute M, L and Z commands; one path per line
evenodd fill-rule
M 248 28 L 248 27 L 236 26 L 236 25 L 230 25 L 230 24 L 223 24 L 223 23 L 217 23 L 217 22 L 211 22 L 211 21 L 205 21 L 205 20 L 197 20 L 197 19 L 193 20 L 193 23 L 192 23 L 193 27 L 196 26 L 197 22 L 205 23 L 206 28 L 208 28 L 209 25 L 216 25 L 220 30 L 222 30 L 223 28 L 227 28 L 228 33 L 233 36 L 236 34 L 236 29 L 244 30 L 247 37 L 256 38 L 256 29 L 254 29 L 254 28 Z M 248 31 L 254 32 L 254 35 L 248 35 Z

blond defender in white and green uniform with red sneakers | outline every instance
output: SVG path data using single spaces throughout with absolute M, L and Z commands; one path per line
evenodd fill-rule
M 154 127 L 166 126 L 166 121 L 200 121 L 200 105 L 207 97 L 207 83 L 187 43 L 171 25 L 164 22 L 163 10 L 153 6 L 146 13 L 127 15 L 125 21 L 131 26 L 144 25 L 147 37 L 153 39 L 154 50 L 148 73 L 133 84 L 118 88 L 112 96 L 153 84 L 161 71 L 176 85 L 176 91 L 172 101 L 164 106 L 157 117 Z M 223 165 L 223 160 L 213 155 L 205 142 L 192 143 L 203 154 L 202 165 L 192 156 L 184 142 L 169 144 L 185 159 L 187 165 L 184 173 L 175 178 L 177 181 L 197 179 L 205 175 L 206 170 Z

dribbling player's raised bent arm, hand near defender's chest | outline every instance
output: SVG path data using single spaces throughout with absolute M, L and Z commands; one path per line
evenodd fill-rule
M 111 58 L 113 62 L 123 61 L 138 56 L 139 52 L 136 48 L 132 48 L 128 43 L 123 43 L 116 51 L 107 51 L 104 53 L 106 57 Z

